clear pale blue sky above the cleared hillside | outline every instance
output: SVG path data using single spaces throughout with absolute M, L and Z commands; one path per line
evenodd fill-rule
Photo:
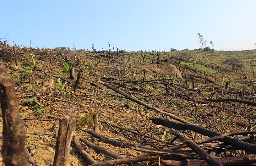
M 256 0 L 0 0 L 0 25 L 0 38 L 19 46 L 197 49 L 200 33 L 216 50 L 248 50 Z

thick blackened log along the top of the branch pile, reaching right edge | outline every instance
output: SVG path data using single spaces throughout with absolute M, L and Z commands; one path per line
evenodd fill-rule
M 176 122 L 171 122 L 169 120 L 161 119 L 161 118 L 150 118 L 150 120 L 153 121 L 153 123 L 157 125 L 162 125 L 168 128 L 174 128 L 175 130 L 192 130 L 195 132 L 198 132 L 202 135 L 208 136 L 208 137 L 213 137 L 213 136 L 219 136 L 220 134 L 217 132 L 214 132 L 212 130 L 208 130 L 205 128 L 202 128 L 197 125 L 192 125 L 192 124 L 181 124 L 181 123 L 176 123 Z M 219 141 L 224 142 L 227 145 L 232 145 L 233 147 L 237 149 L 243 149 L 246 150 L 250 153 L 256 153 L 256 145 L 244 142 L 244 141 L 239 141 L 237 139 L 231 138 L 231 137 L 225 137 L 219 139 Z

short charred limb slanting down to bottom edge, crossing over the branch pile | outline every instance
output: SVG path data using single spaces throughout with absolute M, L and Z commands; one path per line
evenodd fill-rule
M 192 140 L 187 139 L 185 136 L 183 136 L 180 132 L 178 132 L 174 128 L 170 129 L 170 133 L 175 135 L 176 137 L 178 137 L 185 144 L 187 144 L 187 146 L 189 146 L 195 153 L 199 154 L 202 157 L 202 159 L 204 159 L 211 166 L 223 166 L 218 161 L 213 159 L 209 154 L 207 154 L 195 142 L 193 142 Z

